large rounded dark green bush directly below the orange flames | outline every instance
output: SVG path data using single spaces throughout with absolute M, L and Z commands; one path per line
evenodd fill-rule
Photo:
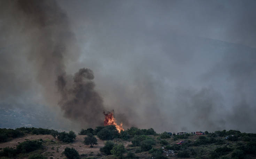
M 119 133 L 115 125 L 107 125 L 98 132 L 97 136 L 101 140 L 112 140 L 114 138 L 118 138 Z

